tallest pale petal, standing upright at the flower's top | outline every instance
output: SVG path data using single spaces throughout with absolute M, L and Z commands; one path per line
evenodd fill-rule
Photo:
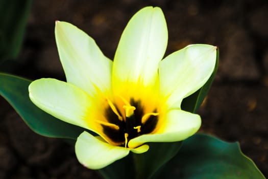
M 125 28 L 114 56 L 114 92 L 128 98 L 133 94 L 144 95 L 144 88 L 152 90 L 158 83 L 158 63 L 166 45 L 167 27 L 162 10 L 145 7 L 138 11 Z

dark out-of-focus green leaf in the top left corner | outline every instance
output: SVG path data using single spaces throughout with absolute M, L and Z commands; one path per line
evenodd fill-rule
M 0 60 L 17 57 L 32 0 L 0 0 Z

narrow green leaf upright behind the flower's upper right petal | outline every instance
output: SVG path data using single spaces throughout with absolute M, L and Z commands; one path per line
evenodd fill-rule
M 181 104 L 181 108 L 183 110 L 189 111 L 191 113 L 196 113 L 196 111 L 202 104 L 215 78 L 215 75 L 218 69 L 218 57 L 219 57 L 219 51 L 217 48 L 216 63 L 215 63 L 214 71 L 212 72 L 210 78 L 204 84 L 204 86 L 202 86 L 197 92 L 183 99 L 182 104 Z

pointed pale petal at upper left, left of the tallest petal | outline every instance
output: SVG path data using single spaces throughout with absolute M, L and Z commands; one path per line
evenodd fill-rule
M 112 61 L 103 55 L 95 41 L 76 26 L 56 21 L 55 36 L 67 82 L 90 96 L 111 93 Z

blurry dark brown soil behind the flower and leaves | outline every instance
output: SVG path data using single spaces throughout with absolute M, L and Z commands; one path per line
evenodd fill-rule
M 268 175 L 268 3 L 252 1 L 34 1 L 20 66 L 29 79 L 65 80 L 54 37 L 55 20 L 68 21 L 95 39 L 113 58 L 121 32 L 144 6 L 162 8 L 168 27 L 166 54 L 191 43 L 220 48 L 220 65 L 199 109 L 200 132 L 229 142 Z M 74 148 L 38 136 L 0 98 L 0 178 L 99 178 L 77 162 Z

